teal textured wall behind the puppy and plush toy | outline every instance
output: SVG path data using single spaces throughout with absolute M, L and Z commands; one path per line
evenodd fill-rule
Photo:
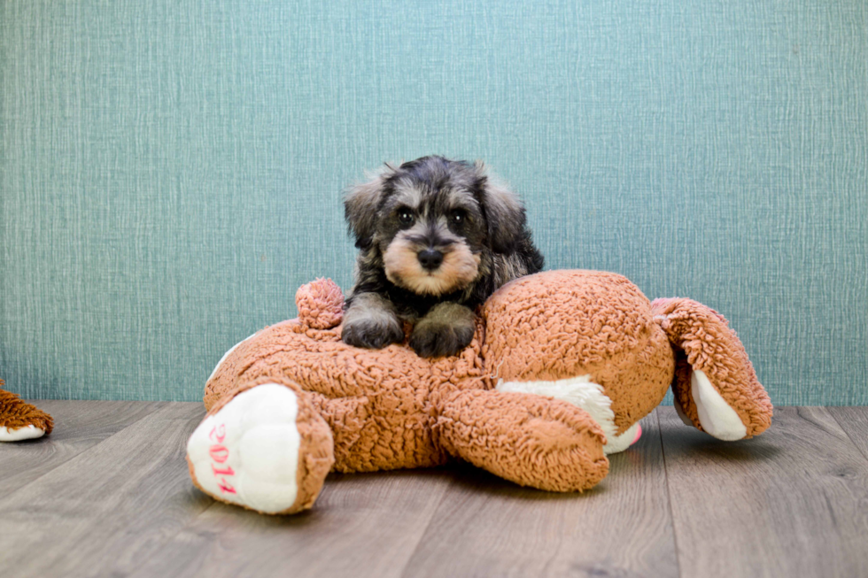
M 777 404 L 868 403 L 868 4 L 0 3 L 0 376 L 201 396 L 345 288 L 340 190 L 484 158 L 549 268 L 731 320 Z

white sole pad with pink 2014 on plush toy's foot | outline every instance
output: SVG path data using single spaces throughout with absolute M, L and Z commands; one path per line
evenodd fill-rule
M 238 394 L 199 424 L 187 443 L 206 493 L 260 512 L 283 512 L 298 494 L 298 398 L 266 383 Z

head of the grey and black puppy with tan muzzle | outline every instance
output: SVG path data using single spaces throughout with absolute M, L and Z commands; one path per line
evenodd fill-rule
M 385 165 L 349 190 L 345 215 L 389 281 L 431 296 L 477 281 L 491 253 L 517 248 L 525 225 L 521 202 L 482 163 L 443 157 Z

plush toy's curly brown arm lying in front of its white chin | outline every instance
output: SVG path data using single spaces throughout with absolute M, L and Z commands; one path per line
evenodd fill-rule
M 449 453 L 523 486 L 581 491 L 608 474 L 599 424 L 562 400 L 460 391 L 446 400 L 436 429 Z

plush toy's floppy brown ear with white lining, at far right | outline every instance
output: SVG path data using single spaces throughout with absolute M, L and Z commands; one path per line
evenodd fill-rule
M 691 299 L 657 299 L 651 307 L 675 350 L 672 392 L 681 419 L 727 441 L 763 433 L 771 401 L 724 317 Z

